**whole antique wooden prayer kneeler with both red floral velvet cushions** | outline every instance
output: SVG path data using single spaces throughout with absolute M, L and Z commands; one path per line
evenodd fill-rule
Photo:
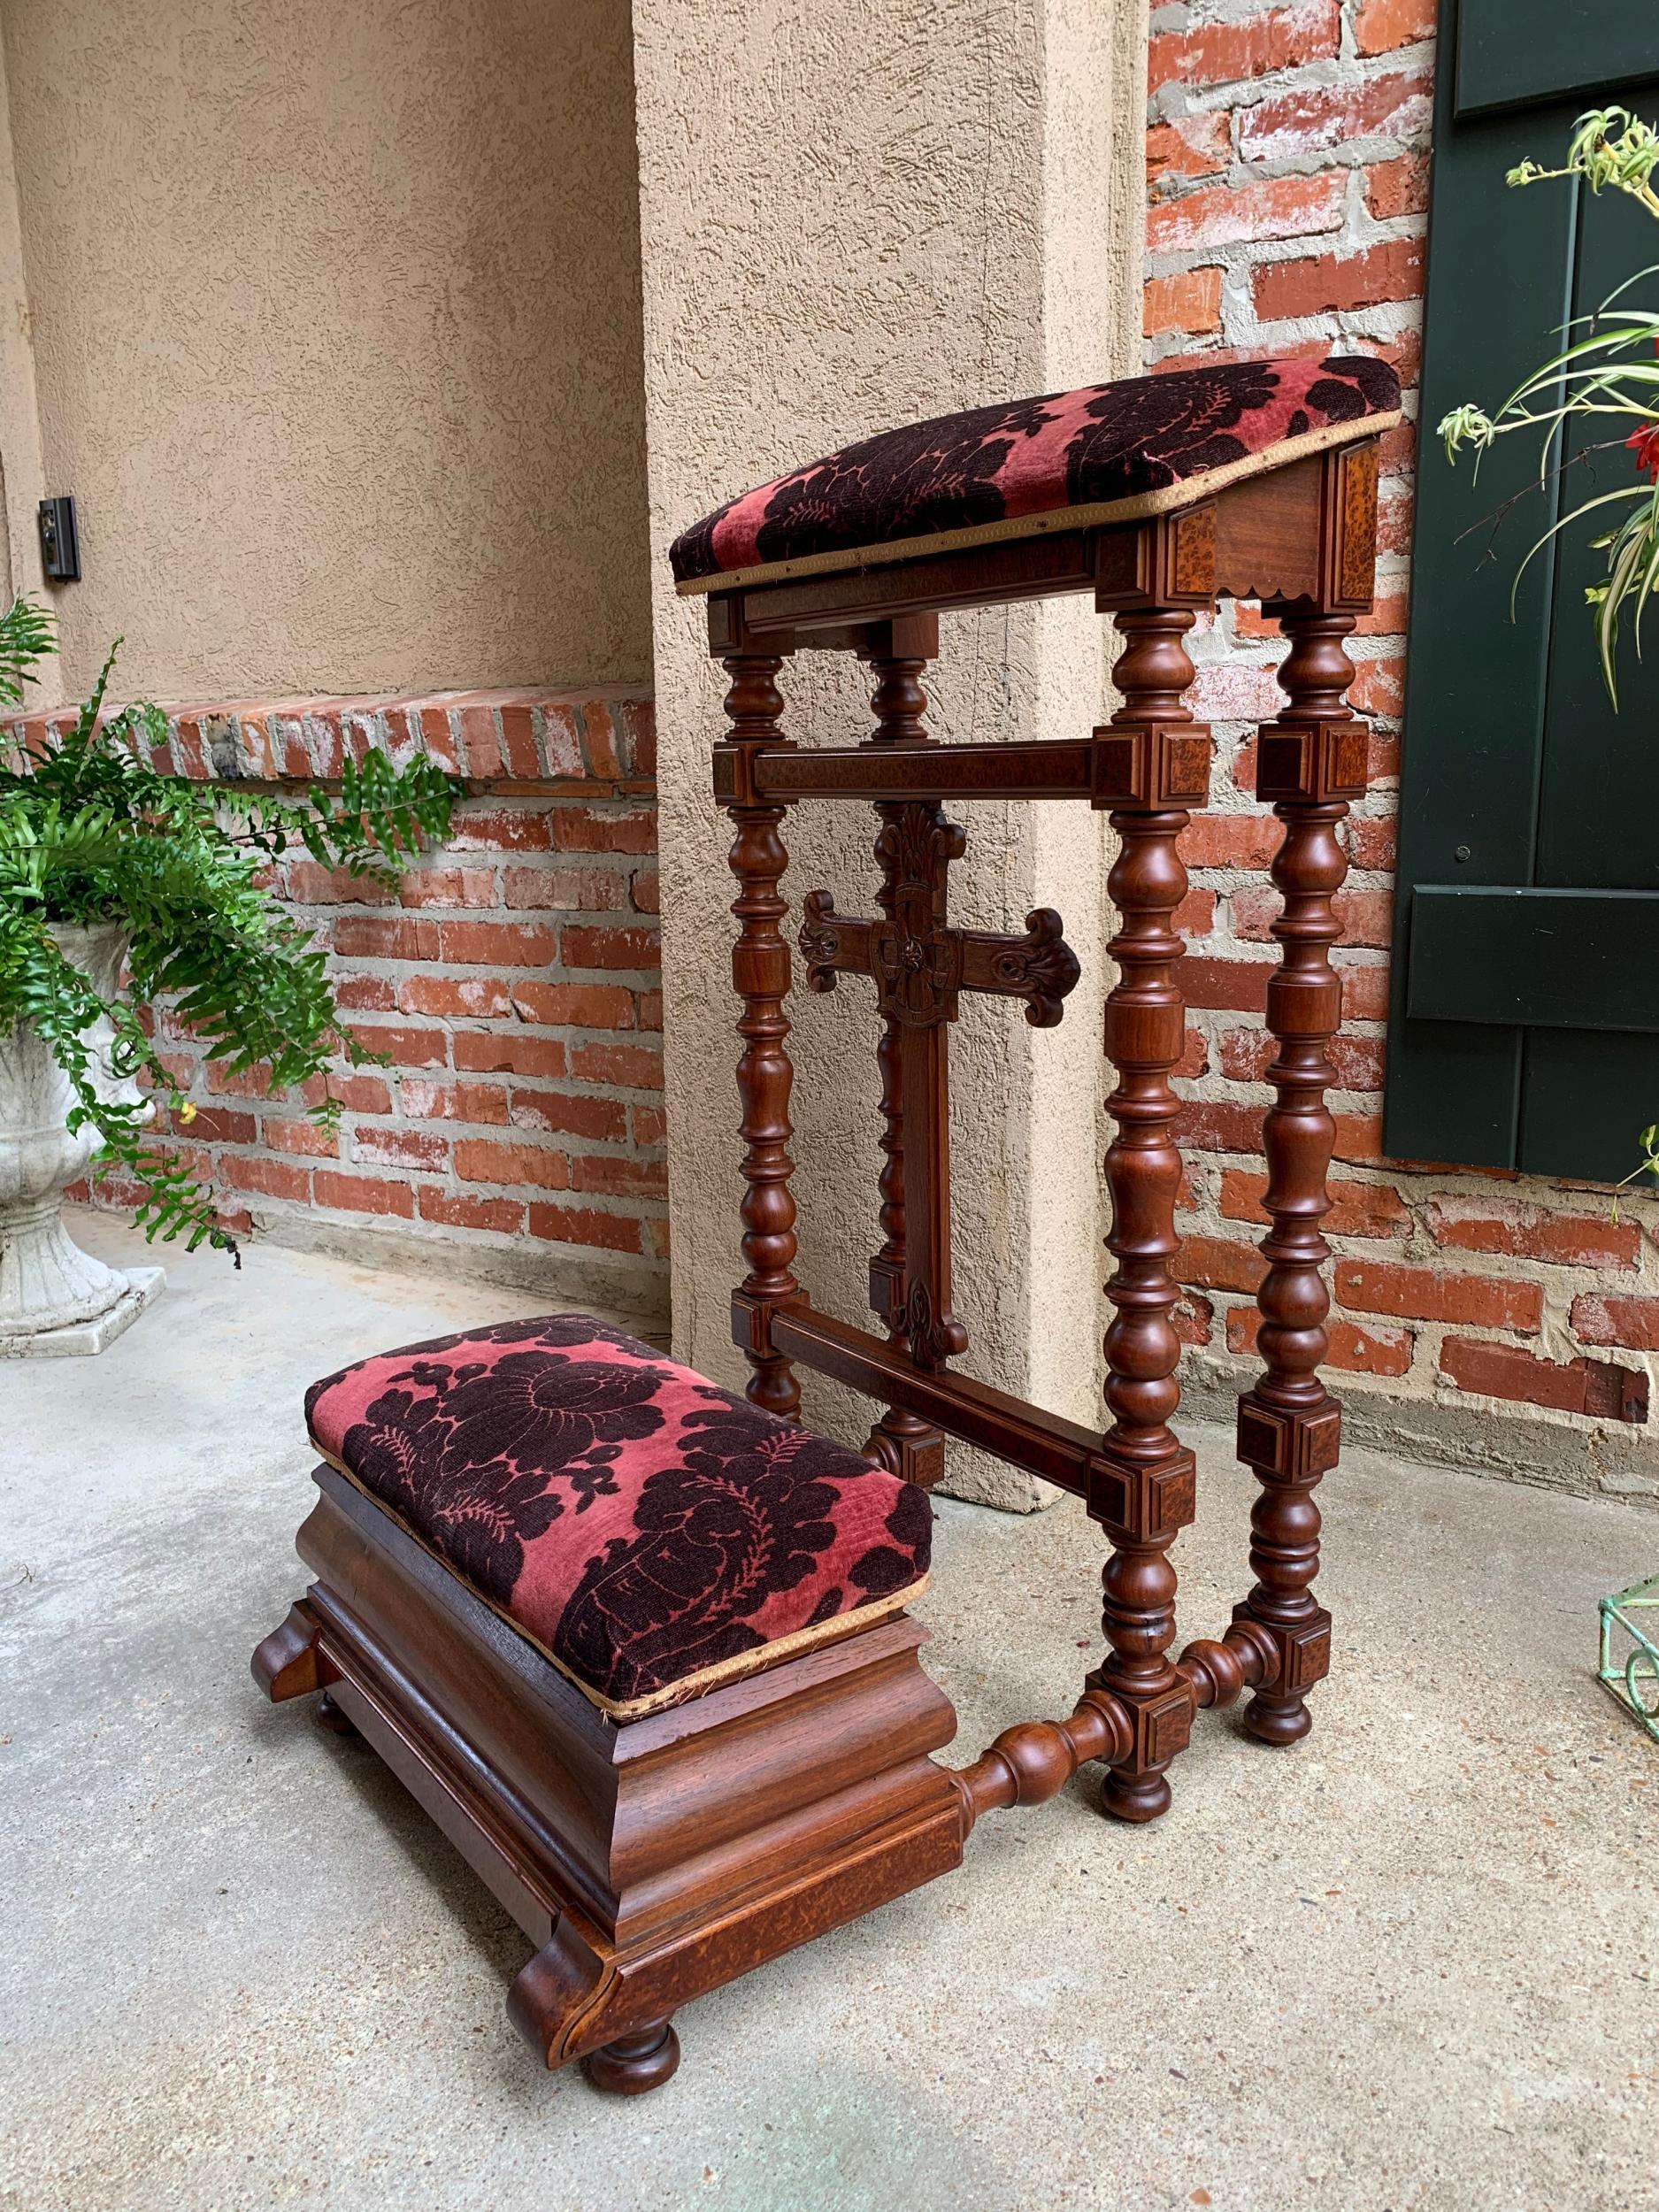
M 254 1655 L 272 1699 L 325 1690 L 540 1944 L 509 1995 L 549 2066 L 644 2090 L 677 2064 L 690 1997 L 945 1874 L 975 1818 L 1040 1803 L 1084 1763 L 1102 1803 L 1150 1820 L 1192 1717 L 1245 1690 L 1245 1728 L 1287 1745 L 1329 1666 L 1314 1486 L 1336 1464 L 1318 1378 L 1327 1294 L 1325 1046 L 1336 825 L 1365 792 L 1343 639 L 1371 606 L 1378 438 L 1398 385 L 1369 358 L 1232 363 L 978 409 L 865 440 L 719 509 L 675 546 L 730 675 L 714 792 L 737 841 L 743 1000 L 743 1256 L 734 1338 L 748 1405 L 580 1316 L 365 1360 L 307 1398 L 325 1462 L 299 1548 L 316 1582 Z M 1124 641 L 1121 706 L 1091 737 L 933 743 L 922 670 L 938 615 L 1093 593 Z M 1183 1048 L 1177 841 L 1208 801 L 1210 734 L 1186 708 L 1186 633 L 1259 599 L 1287 650 L 1287 706 L 1256 737 L 1283 823 L 1283 947 L 1267 984 L 1261 1378 L 1239 1405 L 1259 1478 L 1254 1586 L 1219 1639 L 1175 1644 L 1175 1535 L 1192 1453 L 1170 1429 L 1179 1340 L 1170 1071 Z M 874 734 L 796 748 L 776 677 L 801 650 L 874 675 Z M 1104 1433 L 960 1376 L 951 1314 L 947 1035 L 958 993 L 1062 1018 L 1077 980 L 1051 911 L 1022 938 L 953 929 L 945 801 L 1110 810 L 1117 982 L 1106 1002 L 1106 1155 L 1117 1310 Z M 878 914 L 803 902 L 812 989 L 874 984 L 883 1015 L 885 1334 L 821 1314 L 792 1263 L 790 947 L 783 825 L 874 803 Z M 792 1425 L 794 1367 L 887 1407 L 863 1453 Z M 759 1411 L 757 1411 L 759 1409 Z M 772 1420 L 770 1416 L 776 1416 Z M 787 1427 L 779 1427 L 779 1422 Z M 1064 1721 L 1009 1728 L 967 1770 L 931 1754 L 956 1717 L 918 1666 L 905 1599 L 925 1579 L 925 1489 L 956 1436 L 1079 1493 L 1110 1546 L 1108 1650 Z M 757 1564 L 759 1562 L 759 1564 Z

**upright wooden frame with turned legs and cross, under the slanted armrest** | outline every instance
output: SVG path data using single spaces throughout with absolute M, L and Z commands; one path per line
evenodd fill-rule
M 1371 606 L 1376 480 L 1378 440 L 1358 438 L 1148 522 L 1053 531 L 856 573 L 717 591 L 708 602 L 710 653 L 732 679 L 732 728 L 714 748 L 714 796 L 737 830 L 739 918 L 761 891 L 757 838 L 765 841 L 765 896 L 779 896 L 790 807 L 863 801 L 874 803 L 883 821 L 876 843 L 880 920 L 847 922 L 827 891 L 812 891 L 801 951 L 812 989 L 830 989 L 847 971 L 869 975 L 885 1015 L 885 1241 L 872 1263 L 872 1305 L 887 1340 L 818 1314 L 792 1272 L 768 1285 L 745 1239 L 750 1276 L 732 1298 L 732 1334 L 754 1367 L 750 1394 L 774 1402 L 787 1391 L 794 1405 L 794 1365 L 801 1363 L 885 1400 L 889 1411 L 872 1451 L 911 1480 L 936 1480 L 940 1455 L 931 1440 L 956 1436 L 1088 1502 L 1110 1546 L 1104 1568 L 1108 1650 L 1088 1674 L 1079 1705 L 1079 1714 L 1093 1719 L 1082 1732 L 1077 1714 L 1048 1728 L 1044 1774 L 1060 1787 L 1084 1759 L 1102 1761 L 1108 1770 L 1102 1803 L 1126 1820 L 1150 1820 L 1168 1807 L 1168 1767 L 1201 1708 L 1228 1705 L 1248 1688 L 1248 1730 L 1265 1743 L 1292 1743 L 1310 1728 L 1307 1690 L 1329 1668 L 1329 1615 L 1312 1595 L 1318 1568 L 1314 1489 L 1336 1464 L 1340 1407 L 1318 1378 L 1329 1310 L 1321 1279 L 1329 1254 L 1318 1223 L 1329 1210 L 1325 1177 L 1334 1137 L 1325 1110 L 1327 1044 L 1340 1020 L 1340 978 L 1329 964 L 1338 933 L 1332 898 L 1345 874 L 1336 823 L 1365 792 L 1369 752 L 1367 728 L 1347 706 L 1354 668 L 1343 639 Z M 938 613 L 1064 591 L 1093 591 L 1095 606 L 1115 617 L 1124 646 L 1115 668 L 1124 699 L 1117 714 L 1088 739 L 1057 743 L 938 745 L 927 739 L 918 679 L 938 650 Z M 1274 860 L 1274 883 L 1285 894 L 1285 911 L 1274 925 L 1283 958 L 1267 987 L 1267 1026 L 1279 1051 L 1267 1071 L 1276 1102 L 1263 1117 L 1272 1219 L 1259 1292 L 1263 1376 L 1239 1402 L 1239 1455 L 1261 1491 L 1252 1513 L 1252 1590 L 1221 1639 L 1190 1644 L 1172 1657 L 1177 1582 L 1168 1551 L 1194 1515 L 1192 1453 L 1170 1429 L 1179 1405 L 1179 1343 L 1170 1323 L 1179 1290 L 1170 1261 L 1179 1248 L 1175 1194 L 1181 1181 L 1170 1071 L 1186 1029 L 1183 945 L 1172 916 L 1186 891 L 1177 841 L 1192 810 L 1206 805 L 1210 779 L 1210 732 L 1186 706 L 1194 670 L 1183 637 L 1197 611 L 1221 597 L 1259 599 L 1287 641 L 1281 666 L 1287 703 L 1256 739 L 1256 792 L 1285 825 Z M 814 648 L 852 650 L 876 670 L 878 728 L 863 745 L 801 750 L 783 734 L 774 677 L 790 655 Z M 765 728 L 745 714 L 748 688 L 761 672 L 770 692 Z M 1106 1334 L 1110 1422 L 1104 1433 L 947 1365 L 967 1340 L 949 1316 L 945 1024 L 956 1011 L 953 989 L 969 982 L 971 967 L 962 945 L 969 933 L 951 931 L 945 920 L 942 878 L 962 849 L 960 832 L 940 816 L 947 799 L 1079 799 L 1110 810 L 1119 836 L 1110 876 L 1119 916 L 1110 947 L 1117 984 L 1106 1002 L 1106 1055 L 1117 1068 L 1108 1102 L 1115 1139 L 1106 1155 L 1108 1248 L 1117 1267 L 1108 1285 L 1115 1321 Z M 902 931 L 896 931 L 905 900 L 900 823 L 911 825 L 911 847 L 929 832 L 931 874 L 927 898 L 911 898 Z M 776 916 L 768 914 L 774 927 Z M 902 936 L 898 947 L 896 933 Z M 885 956 L 876 951 L 880 940 L 887 940 Z M 989 978 L 1029 969 L 1040 947 L 1048 958 L 1064 951 L 1057 916 L 1031 916 L 1026 940 L 984 940 L 973 962 L 975 980 L 1018 989 Z M 909 1020 L 929 1022 L 927 1051 L 900 1042 L 902 1071 L 896 1075 L 894 1033 L 902 1009 L 891 975 L 900 962 L 922 1000 L 931 984 L 931 1013 L 911 1004 Z M 739 1026 L 748 1037 L 757 1015 L 768 1024 L 781 1018 L 787 975 L 779 980 L 770 967 L 768 995 L 757 1004 L 743 942 L 732 973 L 745 1002 Z M 1022 993 L 1029 1018 L 1057 1020 L 1073 980 L 1075 962 L 1068 975 L 1062 969 L 1051 978 L 1046 998 Z M 776 1139 L 776 1150 L 768 1152 L 768 1206 L 787 1206 L 792 1267 L 794 1203 L 770 1179 L 776 1159 L 787 1161 L 787 1055 L 776 1073 L 757 1077 L 752 1053 L 745 1053 L 739 1088 L 745 1135 L 759 1126 Z M 787 1170 L 783 1181 L 787 1186 Z M 960 1343 L 929 1327 L 936 1316 L 949 1316 Z M 900 1433 L 925 1436 L 927 1451 L 894 1449 Z

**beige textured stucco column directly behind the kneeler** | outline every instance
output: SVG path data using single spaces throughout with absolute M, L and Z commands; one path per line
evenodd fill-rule
M 672 535 L 717 500 L 894 422 L 1128 374 L 1139 347 L 1144 0 L 635 0 L 646 438 L 655 575 L 675 1338 L 737 1380 L 737 1040 L 730 832 L 708 750 L 723 679 Z M 803 743 L 869 728 L 863 670 L 785 666 Z M 1099 719 L 1084 604 L 947 617 L 940 737 L 1060 737 Z M 953 911 L 1024 927 L 1055 905 L 1084 962 L 1057 1031 L 964 1002 L 953 1033 L 956 1310 L 967 1367 L 1097 1418 L 1102 823 L 962 807 Z M 869 911 L 874 814 L 801 807 L 785 891 Z M 794 1002 L 799 1272 L 865 1318 L 876 1239 L 876 1018 L 867 987 Z M 807 1413 L 863 1440 L 869 1407 L 812 1378 Z M 949 1486 L 1042 1486 L 951 1447 Z

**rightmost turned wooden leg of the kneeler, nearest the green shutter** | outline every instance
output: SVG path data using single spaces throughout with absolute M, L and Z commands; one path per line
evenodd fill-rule
M 1321 1274 L 1329 1245 L 1325 1172 L 1334 1124 L 1325 1108 L 1325 1046 L 1343 1013 L 1329 962 L 1340 933 L 1332 898 L 1347 874 L 1336 825 L 1365 792 L 1367 728 L 1347 708 L 1354 664 L 1343 639 L 1352 615 L 1307 604 L 1274 608 L 1290 650 L 1279 681 L 1290 706 L 1256 739 L 1256 792 L 1274 801 L 1285 836 L 1272 878 L 1285 896 L 1274 922 L 1283 947 L 1267 982 L 1267 1029 L 1279 1053 L 1267 1068 L 1276 1099 L 1263 1121 L 1272 1228 L 1261 1241 L 1267 1274 L 1261 1307 L 1261 1380 L 1239 1400 L 1239 1458 L 1261 1495 L 1250 1515 L 1256 1586 L 1234 1610 L 1228 1644 L 1254 1652 L 1259 1681 L 1245 1728 L 1263 1743 L 1296 1743 L 1312 1721 L 1307 1690 L 1329 1672 L 1332 1619 L 1312 1595 L 1318 1573 L 1314 1489 L 1336 1467 L 1343 1409 L 1318 1378 L 1329 1294 Z

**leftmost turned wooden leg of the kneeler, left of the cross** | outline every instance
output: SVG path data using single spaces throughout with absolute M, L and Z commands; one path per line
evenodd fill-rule
M 783 695 L 776 655 L 741 653 L 726 659 L 732 688 L 726 712 L 732 721 L 732 743 L 745 748 L 781 745 L 779 714 Z M 779 1305 L 801 1294 L 794 1279 L 794 1197 L 790 1177 L 790 1086 L 794 1068 L 785 1051 L 790 1018 L 783 1002 L 790 995 L 790 947 L 779 922 L 790 911 L 779 880 L 790 854 L 779 836 L 783 807 L 734 805 L 728 814 L 737 827 L 730 869 L 739 891 L 732 914 L 739 940 L 732 947 L 732 982 L 743 1000 L 737 1024 L 743 1057 L 737 1066 L 737 1088 L 743 1099 L 743 1259 L 748 1274 L 737 1292 L 737 1307 L 748 1312 L 750 1363 L 748 1396 L 768 1413 L 790 1416 L 801 1405 L 801 1385 L 790 1363 L 772 1352 L 770 1321 Z

